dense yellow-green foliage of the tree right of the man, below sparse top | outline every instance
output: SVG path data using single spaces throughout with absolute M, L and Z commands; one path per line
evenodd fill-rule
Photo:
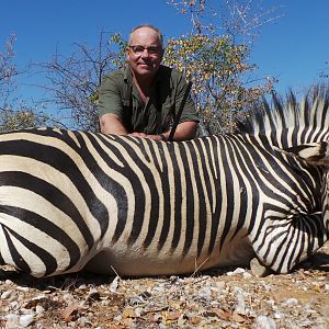
M 256 68 L 246 63 L 248 55 L 246 46 L 227 36 L 198 34 L 169 39 L 164 63 L 183 70 L 193 82 L 202 135 L 231 132 L 232 118 L 272 88 L 270 80 L 262 87 L 243 87 L 241 77 Z

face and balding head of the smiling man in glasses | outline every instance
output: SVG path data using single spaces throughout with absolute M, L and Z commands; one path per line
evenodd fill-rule
M 136 78 L 152 78 L 160 66 L 162 55 L 163 50 L 156 31 L 140 27 L 133 33 L 127 59 Z

